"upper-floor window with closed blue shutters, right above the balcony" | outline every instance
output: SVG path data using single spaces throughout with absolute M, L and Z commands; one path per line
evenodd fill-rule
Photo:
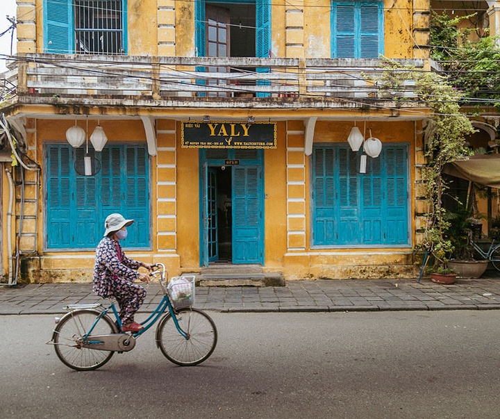
M 383 54 L 383 1 L 332 1 L 333 58 L 378 58 Z

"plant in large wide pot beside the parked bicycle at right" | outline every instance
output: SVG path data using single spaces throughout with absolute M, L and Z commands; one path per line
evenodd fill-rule
M 481 222 L 474 218 L 472 211 L 460 205 L 449 213 L 450 226 L 448 236 L 453 245 L 453 252 L 448 261 L 449 268 L 455 270 L 462 278 L 479 278 L 487 268 L 487 259 L 478 260 L 474 257 L 474 247 L 470 238 Z

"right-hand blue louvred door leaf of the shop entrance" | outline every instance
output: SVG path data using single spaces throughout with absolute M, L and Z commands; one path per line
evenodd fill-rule
M 263 263 L 260 166 L 233 167 L 233 263 Z

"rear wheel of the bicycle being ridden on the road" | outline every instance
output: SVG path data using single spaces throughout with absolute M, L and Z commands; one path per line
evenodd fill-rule
M 67 313 L 59 320 L 52 340 L 58 358 L 69 368 L 78 371 L 95 370 L 108 362 L 115 353 L 85 347 L 83 336 L 100 314 L 94 310 L 78 310 Z M 92 330 L 94 336 L 114 333 L 117 333 L 117 329 L 107 315 L 104 315 Z

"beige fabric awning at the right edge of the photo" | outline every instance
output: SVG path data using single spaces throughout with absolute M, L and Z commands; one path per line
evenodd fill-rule
M 500 188 L 500 154 L 470 156 L 468 160 L 447 163 L 443 172 L 484 186 Z

